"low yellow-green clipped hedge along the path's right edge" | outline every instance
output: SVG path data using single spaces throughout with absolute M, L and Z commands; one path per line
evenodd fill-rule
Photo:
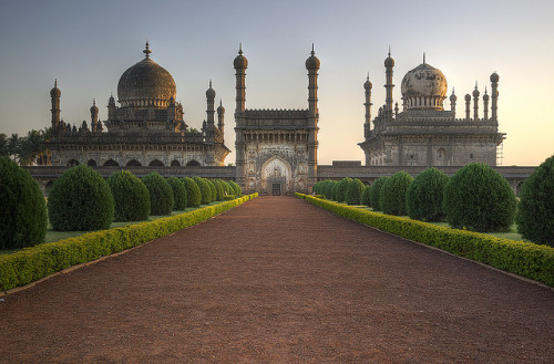
M 377 214 L 302 194 L 296 196 L 379 230 L 554 287 L 554 248 Z

